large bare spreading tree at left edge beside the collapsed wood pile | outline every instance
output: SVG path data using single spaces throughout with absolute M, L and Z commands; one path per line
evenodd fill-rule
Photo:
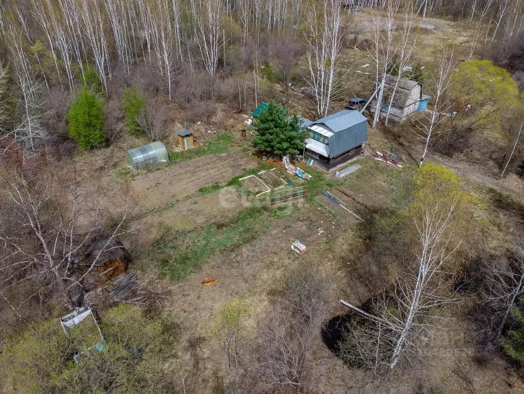
M 116 238 L 135 230 L 125 228 L 127 203 L 121 220 L 106 232 L 92 263 L 84 273 L 74 276 L 75 263 L 100 231 L 105 219 L 100 205 L 93 204 L 84 190 L 72 185 L 63 196 L 63 209 L 59 209 L 55 216 L 50 212 L 50 206 L 56 203 L 52 197 L 57 197 L 52 196 L 51 183 L 42 186 L 22 173 L 12 172 L 12 175 L 2 178 L 2 184 L 5 190 L 3 204 L 12 209 L 12 215 L 3 218 L 0 227 L 2 293 L 5 295 L 17 286 L 32 283 L 37 285 L 37 291 L 27 299 L 50 292 L 65 306 L 71 307 L 69 290 L 82 283 L 105 253 L 120 247 L 115 246 Z M 83 232 L 80 228 L 86 221 L 91 224 Z

